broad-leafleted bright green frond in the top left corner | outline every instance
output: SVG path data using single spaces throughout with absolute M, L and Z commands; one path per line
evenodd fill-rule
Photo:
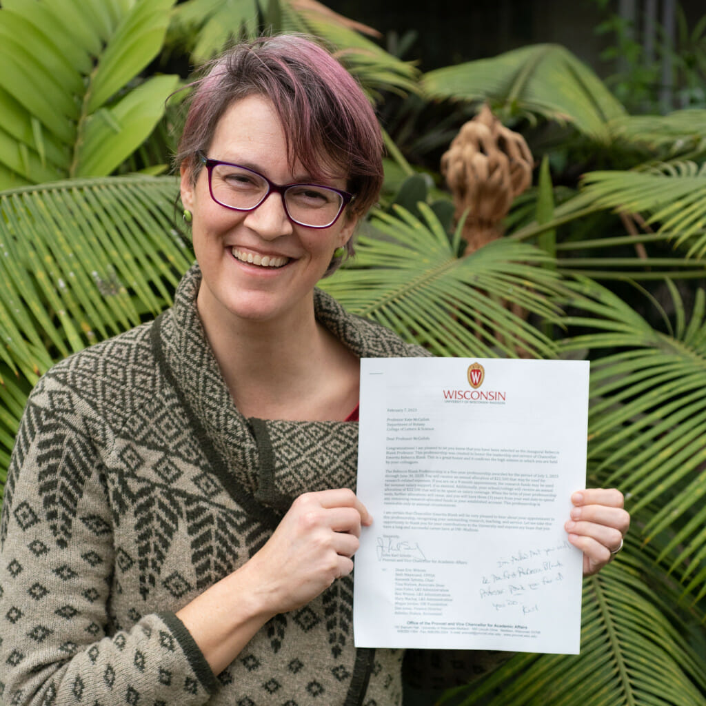
M 164 114 L 177 76 L 137 80 L 174 0 L 4 0 L 0 189 L 109 174 Z

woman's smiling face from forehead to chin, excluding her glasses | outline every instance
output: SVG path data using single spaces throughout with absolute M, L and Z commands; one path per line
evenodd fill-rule
M 253 169 L 275 184 L 313 181 L 301 164 L 289 167 L 280 119 L 270 100 L 259 95 L 227 109 L 206 156 Z M 345 190 L 345 176 L 323 181 L 323 186 Z M 356 225 L 345 211 L 328 228 L 297 225 L 287 218 L 282 197 L 274 192 L 255 210 L 230 210 L 211 198 L 205 168 L 196 184 L 182 168 L 181 201 L 193 215 L 193 247 L 203 273 L 197 304 L 204 323 L 234 321 L 230 317 L 287 317 L 297 323 L 311 316 L 313 287 Z

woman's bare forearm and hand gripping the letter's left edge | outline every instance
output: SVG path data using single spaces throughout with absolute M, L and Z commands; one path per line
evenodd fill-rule
M 299 496 L 263 548 L 177 616 L 219 674 L 273 616 L 303 606 L 351 573 L 372 518 L 342 488 Z

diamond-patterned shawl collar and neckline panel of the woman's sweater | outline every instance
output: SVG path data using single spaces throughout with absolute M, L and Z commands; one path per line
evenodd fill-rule
M 282 513 L 306 491 L 355 489 L 357 423 L 262 421 L 246 419 L 238 411 L 198 316 L 200 284 L 201 270 L 193 265 L 181 280 L 174 306 L 163 315 L 157 354 L 193 417 L 191 423 L 205 437 L 201 443 L 210 447 L 212 459 L 213 452 L 217 455 L 215 465 L 221 467 L 217 474 L 229 492 L 240 496 L 244 491 Z M 352 316 L 318 289 L 314 306 L 318 321 L 359 357 L 429 354 L 382 326 Z

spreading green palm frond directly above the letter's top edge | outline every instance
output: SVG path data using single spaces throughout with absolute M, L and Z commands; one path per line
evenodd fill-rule
M 431 208 L 424 222 L 395 207 L 378 212 L 361 235 L 352 265 L 322 286 L 347 309 L 397 330 L 436 355 L 556 357 L 557 349 L 515 305 L 556 321 L 561 291 L 539 249 L 499 240 L 458 257 L 460 229 L 449 239 Z

